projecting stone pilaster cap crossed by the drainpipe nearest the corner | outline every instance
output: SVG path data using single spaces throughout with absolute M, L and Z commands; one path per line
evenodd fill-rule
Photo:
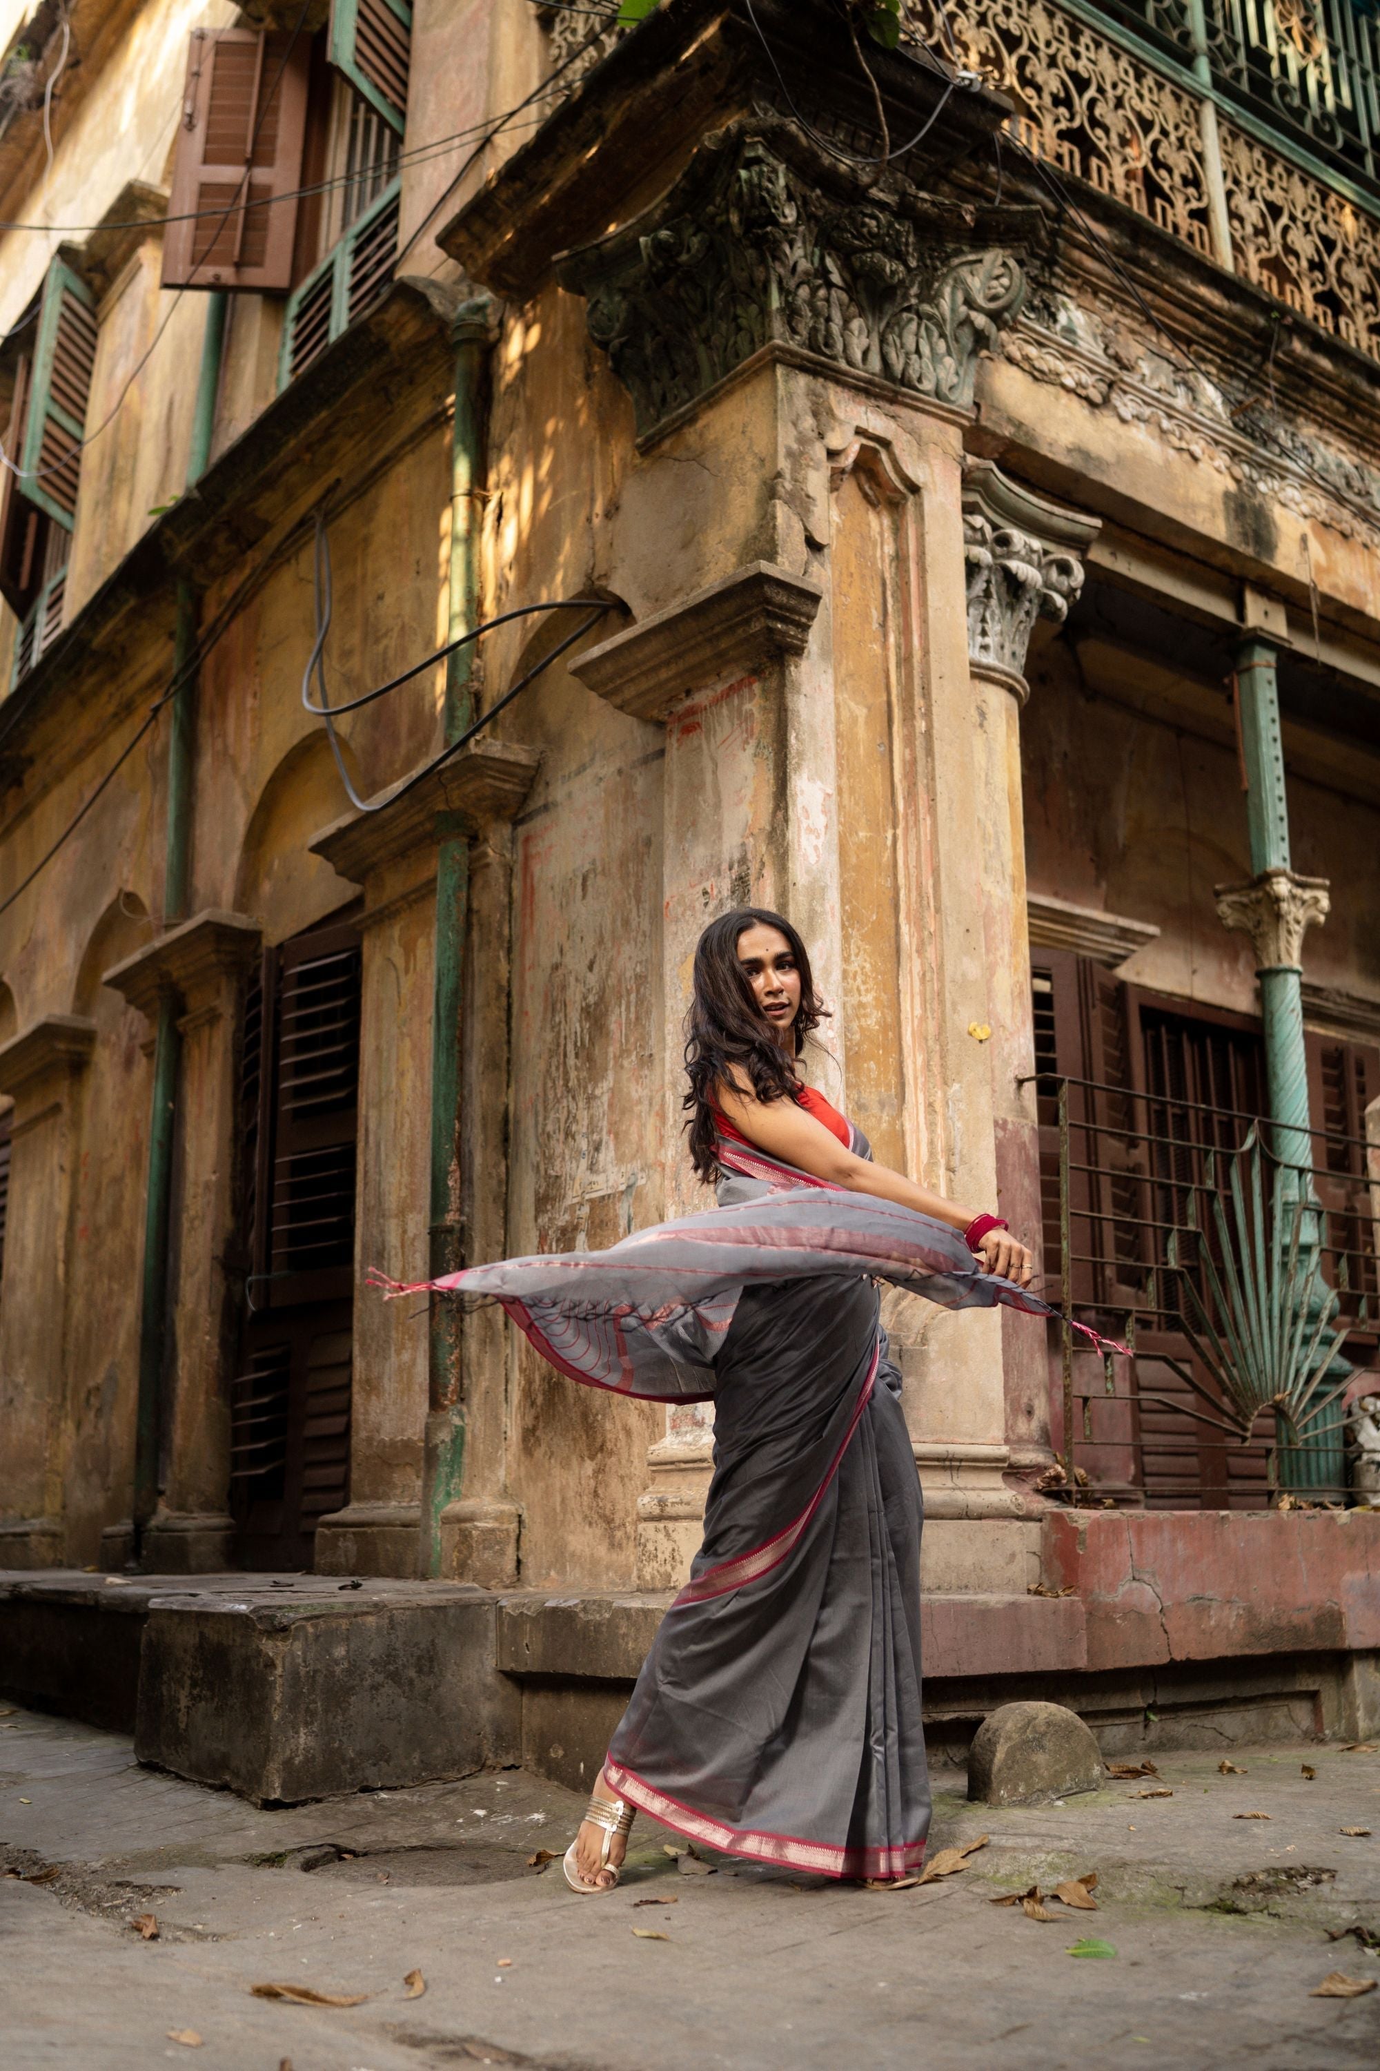
M 312 855 L 348 884 L 366 884 L 389 864 L 437 847 L 437 820 L 455 814 L 472 835 L 511 820 L 532 789 L 540 754 L 515 741 L 474 741 L 420 783 L 399 777 L 368 801 L 366 812 L 333 820 L 312 843 Z

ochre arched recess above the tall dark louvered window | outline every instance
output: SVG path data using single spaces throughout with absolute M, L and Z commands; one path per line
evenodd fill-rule
M 360 785 L 360 770 L 341 741 L 350 781 Z M 265 946 L 325 920 L 350 901 L 350 886 L 308 843 L 350 812 L 331 758 L 325 733 L 308 733 L 288 750 L 250 814 L 240 853 L 236 911 L 263 926 Z

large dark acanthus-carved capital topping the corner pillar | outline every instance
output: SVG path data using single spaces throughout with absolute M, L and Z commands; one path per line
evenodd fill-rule
M 768 346 L 966 410 L 1016 317 L 1039 209 L 869 180 L 780 116 L 706 137 L 631 224 L 557 261 L 648 437 Z

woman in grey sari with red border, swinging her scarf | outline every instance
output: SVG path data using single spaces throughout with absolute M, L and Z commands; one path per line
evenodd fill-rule
M 718 1207 L 434 1282 L 503 1303 L 577 1381 L 714 1402 L 703 1545 L 565 1874 L 610 1891 L 641 1806 L 730 1854 L 898 1878 L 929 1827 L 921 1495 L 877 1280 L 948 1309 L 1051 1311 L 997 1216 L 873 1164 L 801 1081 L 826 1009 L 790 922 L 712 922 L 693 990 L 689 1151 Z

